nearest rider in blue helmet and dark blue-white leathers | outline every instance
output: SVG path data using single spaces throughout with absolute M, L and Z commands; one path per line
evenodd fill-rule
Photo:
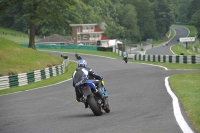
M 76 68 L 76 70 L 73 72 L 72 79 L 76 92 L 76 101 L 85 103 L 85 108 L 88 107 L 88 104 L 84 101 L 83 94 L 81 94 L 78 90 L 80 84 L 76 85 L 76 83 L 80 82 L 81 80 L 88 80 L 94 83 L 95 86 L 97 86 L 97 88 L 94 86 L 94 93 L 96 93 L 96 95 L 105 103 L 102 93 L 98 91 L 98 88 L 101 87 L 101 80 L 103 77 L 94 73 L 92 69 L 87 68 L 86 60 L 81 59 L 78 61 L 78 68 Z

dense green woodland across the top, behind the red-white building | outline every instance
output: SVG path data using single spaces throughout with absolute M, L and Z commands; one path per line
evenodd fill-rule
M 69 24 L 104 21 L 111 39 L 131 41 L 163 37 L 176 22 L 200 30 L 199 0 L 0 0 L 0 13 L 1 26 L 31 36 L 71 35 Z

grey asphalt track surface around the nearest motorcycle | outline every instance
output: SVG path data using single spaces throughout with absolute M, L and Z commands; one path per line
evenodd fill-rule
M 60 53 L 51 53 L 60 56 Z M 75 60 L 74 54 L 65 54 Z M 76 103 L 69 79 L 52 86 L 0 96 L 0 133 L 183 132 L 175 119 L 165 79 L 199 70 L 166 70 L 146 64 L 126 64 L 120 59 L 81 57 L 87 60 L 88 67 L 104 77 L 110 113 L 94 116 L 82 103 Z M 195 132 L 182 107 L 181 110 Z

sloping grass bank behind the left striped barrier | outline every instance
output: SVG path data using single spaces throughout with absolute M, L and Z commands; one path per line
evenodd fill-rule
M 17 43 L 0 37 L 0 76 L 41 70 L 60 65 L 63 58 L 24 48 Z

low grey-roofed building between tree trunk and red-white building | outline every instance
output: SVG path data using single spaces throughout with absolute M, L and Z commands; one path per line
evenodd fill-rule
M 42 44 L 56 44 L 56 43 L 70 43 L 73 39 L 71 36 L 61 36 L 58 34 L 53 34 L 51 36 L 45 37 L 36 43 L 42 43 Z

